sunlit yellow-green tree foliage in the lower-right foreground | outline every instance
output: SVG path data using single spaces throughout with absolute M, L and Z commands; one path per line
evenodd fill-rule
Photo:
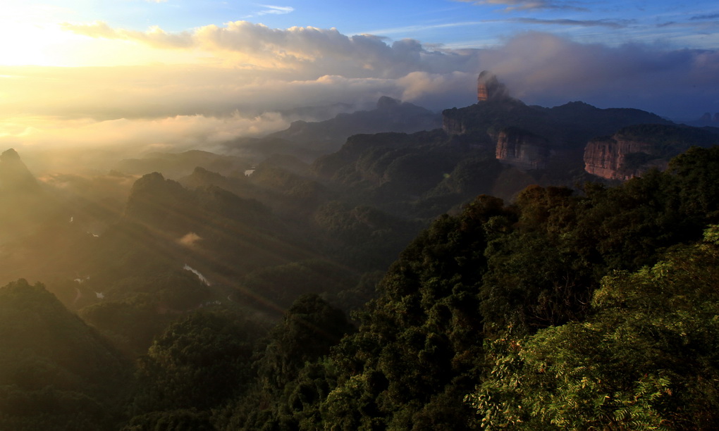
M 638 272 L 615 272 L 584 322 L 508 333 L 468 395 L 481 427 L 650 430 L 719 425 L 719 227 Z

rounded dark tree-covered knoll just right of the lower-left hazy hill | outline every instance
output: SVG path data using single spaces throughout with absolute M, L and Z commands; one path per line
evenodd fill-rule
M 168 326 L 139 359 L 134 414 L 206 410 L 249 386 L 257 328 L 228 314 L 196 312 Z

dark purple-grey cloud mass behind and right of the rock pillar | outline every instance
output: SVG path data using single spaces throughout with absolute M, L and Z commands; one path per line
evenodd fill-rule
M 680 118 L 719 109 L 719 51 L 585 45 L 530 33 L 483 52 L 482 62 L 514 96 L 545 106 L 582 100 Z

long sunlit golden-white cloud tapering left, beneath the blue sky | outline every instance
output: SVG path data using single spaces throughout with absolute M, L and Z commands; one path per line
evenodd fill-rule
M 246 68 L 291 70 L 298 76 L 313 78 L 398 78 L 420 69 L 450 73 L 457 68 L 455 60 L 461 60 L 461 56 L 426 50 L 416 40 L 399 40 L 390 45 L 383 37 L 371 34 L 347 36 L 337 29 L 316 27 L 272 29 L 247 21 L 176 34 L 159 27 L 147 32 L 113 29 L 104 22 L 64 24 L 64 28 L 89 37 L 130 40 L 158 48 L 206 50 Z

